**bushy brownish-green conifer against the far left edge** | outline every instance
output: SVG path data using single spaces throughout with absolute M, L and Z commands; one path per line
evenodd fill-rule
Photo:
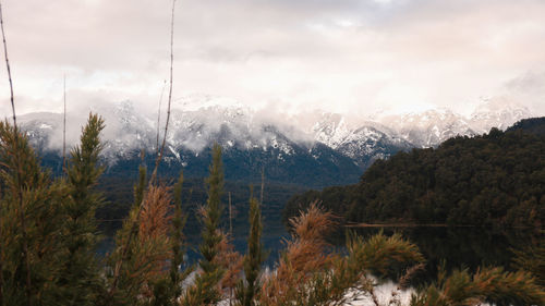
M 0 122 L 3 305 L 58 302 L 65 185 L 52 183 L 26 136 Z

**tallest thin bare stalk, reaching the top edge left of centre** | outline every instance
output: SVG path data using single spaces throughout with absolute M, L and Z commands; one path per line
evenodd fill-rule
M 150 186 L 154 185 L 155 180 L 157 179 L 157 169 L 159 168 L 159 163 L 162 159 L 162 155 L 165 152 L 165 145 L 167 142 L 167 133 L 168 133 L 168 126 L 169 126 L 169 121 L 170 121 L 170 105 L 172 102 L 172 72 L 173 72 L 173 64 L 174 64 L 174 8 L 175 8 L 175 0 L 172 0 L 172 13 L 171 13 L 171 21 L 170 21 L 170 86 L 169 86 L 169 99 L 168 99 L 168 108 L 167 108 L 167 121 L 165 123 L 165 135 L 162 137 L 162 144 L 161 144 L 161 149 L 159 150 L 159 154 L 157 155 L 157 158 L 155 160 L 155 168 L 154 172 L 152 173 L 152 178 L 149 179 L 148 182 L 148 189 Z M 133 240 L 134 235 L 137 233 L 138 229 L 138 223 L 140 223 L 140 216 L 142 208 L 144 207 L 144 201 L 145 197 L 140 204 L 138 207 L 138 213 L 136 215 L 136 220 L 134 221 L 131 232 L 129 233 L 129 237 L 126 238 L 125 244 L 123 245 L 122 252 L 121 252 L 121 260 L 116 262 L 116 267 L 113 269 L 113 281 L 112 285 L 110 287 L 109 292 L 109 298 L 110 298 L 110 304 L 113 303 L 112 296 L 113 293 L 117 290 L 118 286 L 118 281 L 119 281 L 119 276 L 121 272 L 121 267 L 123 265 L 123 261 L 126 261 L 126 256 L 129 252 L 129 246 L 131 245 L 131 241 Z

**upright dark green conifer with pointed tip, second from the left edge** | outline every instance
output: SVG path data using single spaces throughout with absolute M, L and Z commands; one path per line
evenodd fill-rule
M 59 285 L 66 305 L 93 305 L 100 291 L 99 266 L 94 250 L 98 241 L 95 210 L 101 204 L 98 193 L 93 191 L 104 167 L 98 164 L 102 149 L 100 131 L 104 120 L 89 114 L 82 131 L 81 144 L 71 152 L 68 169 L 70 197 L 63 203 L 64 254 Z

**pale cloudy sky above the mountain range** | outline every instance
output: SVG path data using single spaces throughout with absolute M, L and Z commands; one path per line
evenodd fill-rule
M 62 111 L 64 75 L 69 111 L 156 112 L 171 3 L 3 0 L 17 113 Z M 545 114 L 544 50 L 543 0 L 178 0 L 173 98 L 358 114 L 488 99 Z

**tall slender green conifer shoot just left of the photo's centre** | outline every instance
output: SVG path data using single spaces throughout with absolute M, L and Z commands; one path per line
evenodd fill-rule
M 213 162 L 209 167 L 210 176 L 207 179 L 208 200 L 201 209 L 204 225 L 199 245 L 203 258 L 198 261 L 199 273 L 183 296 L 183 305 L 210 305 L 220 301 L 218 284 L 223 276 L 223 269 L 216 260 L 222 234 L 219 230 L 221 217 L 220 196 L 223 191 L 223 167 L 221 162 L 221 147 L 218 144 L 213 148 Z

